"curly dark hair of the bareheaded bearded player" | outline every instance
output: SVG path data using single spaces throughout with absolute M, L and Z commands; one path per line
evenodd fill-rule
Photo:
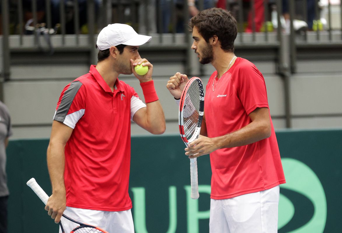
M 190 19 L 189 27 L 190 31 L 196 27 L 206 42 L 209 42 L 209 39 L 216 35 L 224 51 L 234 52 L 237 23 L 234 16 L 227 10 L 211 8 L 201 11 Z

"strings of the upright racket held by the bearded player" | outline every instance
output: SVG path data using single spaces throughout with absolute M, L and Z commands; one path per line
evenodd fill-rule
M 191 138 L 198 125 L 200 96 L 197 82 L 190 84 L 188 92 L 186 93 L 183 108 L 184 117 L 184 135 L 186 138 Z

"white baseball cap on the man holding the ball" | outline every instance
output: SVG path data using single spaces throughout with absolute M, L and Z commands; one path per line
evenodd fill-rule
M 108 24 L 98 33 L 96 45 L 99 50 L 106 50 L 119 44 L 140 46 L 151 39 L 150 36 L 139 35 L 127 24 Z

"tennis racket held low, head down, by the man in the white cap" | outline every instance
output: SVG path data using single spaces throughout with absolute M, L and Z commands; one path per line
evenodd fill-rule
M 40 198 L 40 200 L 42 200 L 42 202 L 46 205 L 46 203 L 48 202 L 49 196 L 39 186 L 39 184 L 37 183 L 35 178 L 31 178 L 29 181 L 27 181 L 26 184 L 37 194 L 37 196 Z M 76 221 L 72 218 L 69 218 L 68 216 L 66 216 L 64 214 L 62 216 L 71 222 L 75 222 L 75 223 L 79 224 L 79 226 L 74 228 L 70 233 L 108 233 L 107 231 L 105 231 L 101 228 Z M 62 225 L 62 221 L 60 221 L 60 226 L 61 226 L 62 233 L 65 233 L 63 225 Z

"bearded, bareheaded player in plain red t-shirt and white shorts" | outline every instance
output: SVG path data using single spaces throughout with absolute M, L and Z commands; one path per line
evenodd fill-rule
M 210 63 L 201 135 L 185 148 L 189 158 L 210 154 L 211 233 L 277 232 L 279 184 L 285 183 L 261 72 L 236 57 L 235 18 L 212 8 L 191 18 L 195 50 Z M 179 99 L 188 77 L 177 72 L 167 88 Z

